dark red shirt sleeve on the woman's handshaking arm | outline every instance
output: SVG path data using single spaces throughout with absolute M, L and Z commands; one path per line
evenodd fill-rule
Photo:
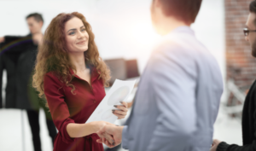
M 63 142 L 73 142 L 74 139 L 67 134 L 67 124 L 74 123 L 65 100 L 62 83 L 52 73 L 44 76 L 44 94 L 49 105 L 49 111 Z

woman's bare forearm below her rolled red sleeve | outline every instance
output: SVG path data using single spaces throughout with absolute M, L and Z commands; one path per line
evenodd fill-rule
M 96 133 L 96 127 L 92 122 L 87 124 L 70 123 L 67 125 L 67 133 L 73 138 L 89 136 L 92 133 Z

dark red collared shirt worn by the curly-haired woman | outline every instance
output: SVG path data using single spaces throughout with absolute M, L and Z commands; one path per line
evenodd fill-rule
M 74 74 L 72 69 L 70 73 Z M 84 124 L 106 95 L 102 78 L 98 78 L 96 69 L 92 69 L 90 86 L 87 81 L 74 74 L 73 95 L 72 88 L 61 83 L 53 72 L 45 74 L 44 94 L 53 122 L 59 131 L 55 136 L 54 151 L 103 151 L 102 144 L 96 142 L 99 137 L 95 133 L 79 138 L 71 138 L 67 134 L 67 124 Z

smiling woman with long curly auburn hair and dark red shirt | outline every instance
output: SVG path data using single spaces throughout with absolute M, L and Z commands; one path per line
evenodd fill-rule
M 57 15 L 38 49 L 33 86 L 45 96 L 58 134 L 54 151 L 103 150 L 96 131 L 108 122 L 84 124 L 105 96 L 109 70 L 99 56 L 84 15 Z M 125 118 L 127 103 L 113 111 Z M 109 141 L 111 141 L 109 139 Z M 113 140 L 112 140 L 113 141 Z

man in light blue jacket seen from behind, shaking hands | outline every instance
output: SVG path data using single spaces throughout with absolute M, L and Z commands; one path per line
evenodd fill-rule
M 164 38 L 140 79 L 126 126 L 105 125 L 115 145 L 130 151 L 207 151 L 223 81 L 218 63 L 189 27 L 201 0 L 153 0 L 151 17 Z

